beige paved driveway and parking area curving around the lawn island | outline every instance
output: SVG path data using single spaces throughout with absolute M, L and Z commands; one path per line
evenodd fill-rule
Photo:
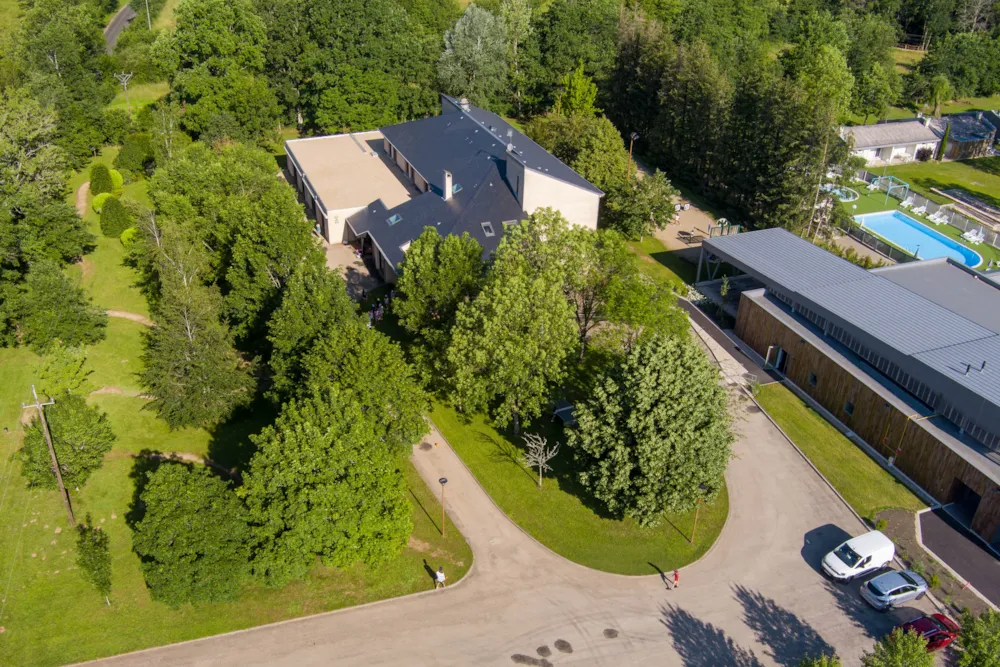
M 604 574 L 548 551 L 493 505 L 434 432 L 429 440 L 441 446 L 415 448 L 413 459 L 432 486 L 449 479 L 448 511 L 475 553 L 464 581 L 105 664 L 755 667 L 833 648 L 856 665 L 873 636 L 917 612 L 880 615 L 856 585 L 819 575 L 822 555 L 863 528 L 763 414 L 741 408 L 740 416 L 729 521 L 678 590 L 656 575 Z

